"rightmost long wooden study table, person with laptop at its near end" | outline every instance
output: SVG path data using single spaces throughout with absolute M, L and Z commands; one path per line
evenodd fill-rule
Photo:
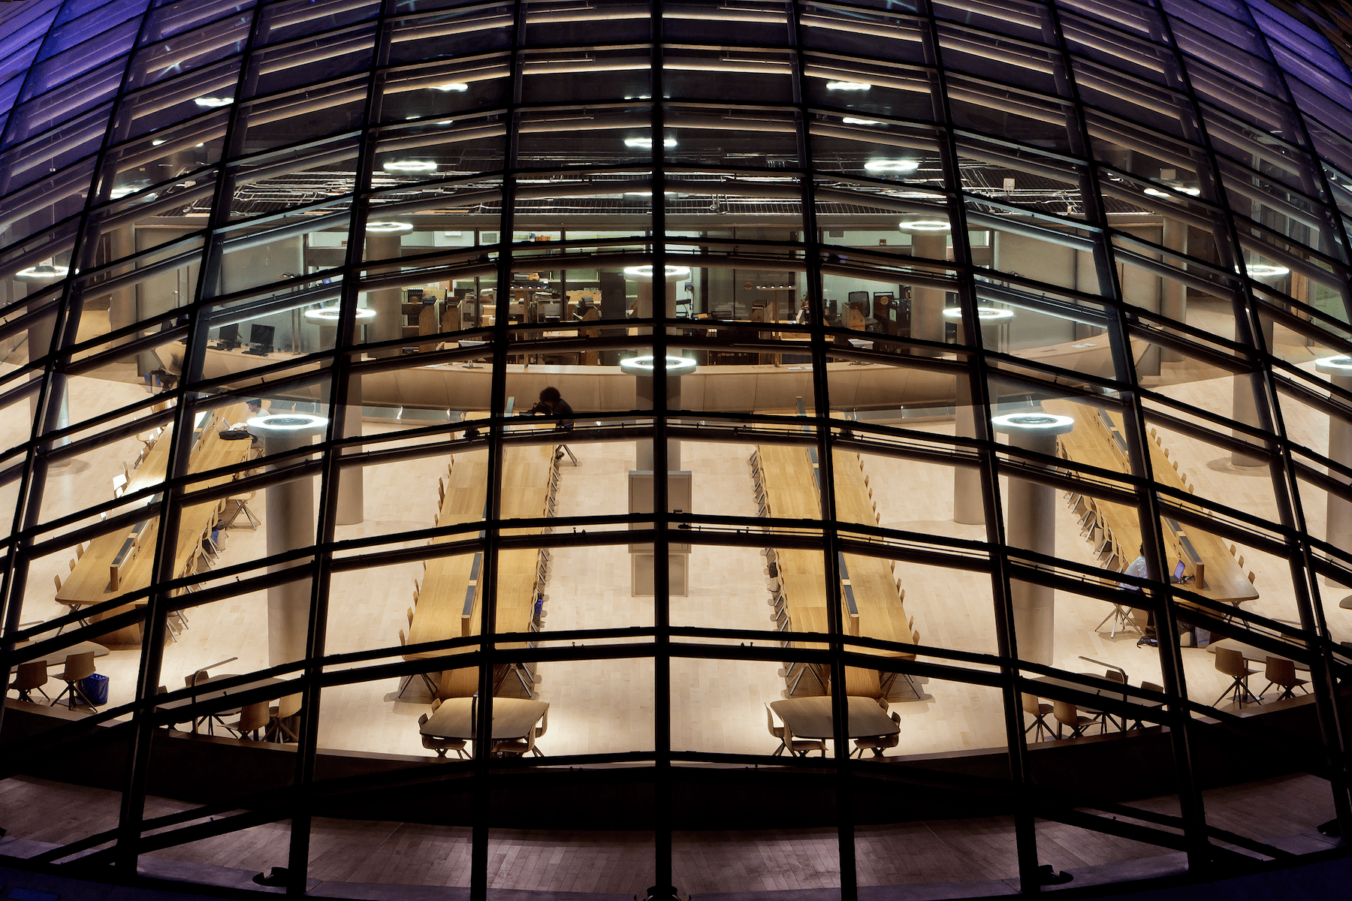
M 1075 419 L 1075 429 L 1057 438 L 1065 459 L 1110 472 L 1130 471 L 1121 423 L 1110 413 L 1064 399 L 1044 400 L 1042 409 Z M 1187 483 L 1179 476 L 1164 449 L 1155 441 L 1145 444 L 1151 451 L 1155 479 L 1160 484 L 1187 494 Z M 1107 530 L 1121 548 L 1125 568 L 1125 563 L 1134 559 L 1137 548 L 1141 547 L 1137 511 L 1107 501 L 1095 501 L 1095 505 Z M 1242 603 L 1259 597 L 1257 588 L 1244 575 L 1244 570 L 1236 563 L 1222 538 L 1195 526 L 1184 526 L 1168 517 L 1163 517 L 1160 525 L 1174 559 L 1182 560 L 1184 574 L 1195 578 L 1188 590 L 1228 603 Z

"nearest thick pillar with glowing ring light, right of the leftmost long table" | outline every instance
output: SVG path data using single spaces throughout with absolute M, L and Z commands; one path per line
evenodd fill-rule
M 247 426 L 249 432 L 262 438 L 265 453 L 273 456 L 308 445 L 327 422 L 323 417 L 311 414 L 269 414 L 249 419 Z M 268 507 L 268 556 L 315 542 L 314 479 L 301 476 L 269 486 L 264 498 Z M 306 563 L 308 559 L 301 557 L 270 565 L 268 572 Z M 308 629 L 310 582 L 288 582 L 268 588 L 268 666 L 276 667 L 304 657 Z

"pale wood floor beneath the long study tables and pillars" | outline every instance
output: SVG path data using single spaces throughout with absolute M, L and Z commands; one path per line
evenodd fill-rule
M 92 379 L 73 379 L 73 410 L 92 410 L 115 399 L 127 403 L 143 398 L 138 386 Z M 1207 409 L 1229 409 L 1229 379 L 1179 382 L 1160 388 Z M 1326 448 L 1326 418 L 1307 410 L 1286 410 L 1291 436 L 1314 449 Z M 28 423 L 26 405 L 0 411 L 0 429 L 19 434 Z M 388 433 L 389 426 L 366 423 L 366 433 Z M 950 433 L 952 425 L 923 426 Z M 1236 471 L 1221 461 L 1217 448 L 1179 434 L 1165 433 L 1165 444 L 1180 460 L 1202 496 L 1222 498 L 1259 515 L 1275 515 L 1271 479 Z M 78 510 L 111 494 L 111 478 L 124 460 L 134 459 L 135 440 L 100 448 L 57 469 L 43 498 L 43 515 L 57 517 Z M 581 461 L 573 468 L 564 461 L 560 487 L 561 515 L 619 513 L 626 506 L 626 472 L 634 465 L 633 442 L 575 445 Z M 752 483 L 744 445 L 687 442 L 684 467 L 695 472 L 695 511 L 754 515 Z M 370 467 L 365 472 L 366 521 L 341 526 L 338 537 L 395 534 L 430 526 L 435 511 L 437 478 L 445 471 L 445 455 L 395 465 Z M 864 471 L 871 476 L 875 499 L 884 526 L 952 537 L 984 538 L 982 526 L 952 522 L 950 468 L 868 456 Z M 0 498 L 3 499 L 3 498 Z M 266 499 L 262 492 L 253 507 L 264 525 L 257 532 L 233 529 L 224 542 L 224 560 L 235 563 L 265 553 L 268 529 Z M 1306 505 L 1311 530 L 1322 530 L 1321 503 Z M 1075 518 L 1064 509 L 1057 513 L 1057 555 L 1092 565 L 1088 545 L 1078 538 Z M 8 524 L 8 515 L 0 517 Z M 241 519 L 242 522 L 242 519 Z M 8 525 L 5 525 L 8 528 Z M 408 547 L 396 542 L 392 547 Z M 1253 609 L 1267 616 L 1295 618 L 1294 595 L 1284 560 L 1248 548 L 1245 568 L 1256 576 L 1261 598 Z M 23 620 L 45 620 L 64 613 L 54 603 L 53 575 L 66 572 L 70 553 L 55 553 L 34 561 L 24 598 Z M 764 559 L 754 549 L 696 547 L 691 557 L 688 597 L 673 598 L 675 625 L 714 625 L 737 629 L 768 629 L 769 607 L 763 586 Z M 942 567 L 899 563 L 906 588 L 906 609 L 915 616 L 923 644 L 945 648 L 995 652 L 990 579 Z M 407 630 L 406 610 L 412 603 L 418 563 L 379 565 L 342 574 L 334 582 L 330 601 L 329 649 L 333 652 L 397 647 L 399 629 Z M 564 548 L 556 552 L 548 606 L 549 630 L 573 628 L 646 626 L 653 622 L 650 598 L 629 593 L 629 555 L 623 547 Z M 1352 639 L 1348 617 L 1337 599 L 1341 590 L 1325 591 L 1325 611 L 1336 639 Z M 1095 630 L 1106 614 L 1096 599 L 1059 593 L 1056 601 L 1056 666 L 1071 671 L 1098 671 L 1080 660 L 1094 657 L 1122 666 L 1133 683 L 1160 680 L 1157 652 L 1137 648 L 1134 634 L 1110 637 Z M 162 682 L 181 685 L 197 667 L 238 656 L 224 671 L 245 672 L 266 663 L 266 597 L 239 595 L 189 613 L 191 628 L 166 648 Z M 767 643 L 772 636 L 767 634 Z M 137 651 L 115 651 L 99 660 L 100 672 L 111 678 L 111 701 L 130 699 L 135 683 Z M 1190 694 L 1210 702 L 1225 686 L 1214 670 L 1213 655 L 1183 649 L 1184 675 Z M 776 741 L 765 731 L 764 705 L 784 689 L 777 663 L 675 659 L 672 667 L 673 747 L 692 751 L 768 754 Z M 539 697 L 553 710 L 549 733 L 541 741 L 548 754 L 642 751 L 652 748 L 653 663 L 646 659 L 549 663 L 539 667 Z M 322 708 L 320 741 L 324 747 L 426 754 L 416 735 L 416 717 L 427 710 L 429 697 L 416 682 L 396 699 L 393 679 L 326 691 Z M 994 716 L 999 697 L 994 690 L 921 680 L 919 693 L 898 679 L 890 699 L 903 720 L 903 741 L 895 754 L 923 754 L 1002 747 L 1005 733 Z

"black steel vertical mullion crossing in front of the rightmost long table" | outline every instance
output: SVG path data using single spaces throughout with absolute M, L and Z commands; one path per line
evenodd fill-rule
M 1082 181 L 1083 199 L 1088 204 L 1090 221 L 1105 227 L 1107 225 L 1107 210 L 1099 193 L 1101 175 L 1098 161 L 1092 152 L 1092 141 L 1088 133 L 1088 123 L 1083 115 L 1083 104 L 1079 96 L 1079 84 L 1075 72 L 1069 66 L 1069 47 L 1065 34 L 1061 30 L 1060 11 L 1056 4 L 1048 4 L 1049 38 L 1056 41 L 1065 64 L 1065 87 L 1069 89 L 1071 100 L 1076 110 L 1073 126 L 1078 131 L 1079 143 L 1084 154 L 1084 172 Z M 1111 261 L 1111 241 L 1106 234 L 1099 235 L 1095 242 L 1095 262 L 1098 264 L 1099 292 L 1103 294 L 1111 310 L 1115 313 L 1115 327 L 1109 329 L 1109 340 L 1113 346 L 1114 369 L 1128 380 L 1129 402 L 1124 405 L 1122 425 L 1126 430 L 1128 456 L 1133 472 L 1140 472 L 1145 479 L 1137 488 L 1137 517 L 1141 525 L 1141 544 L 1145 553 L 1148 572 L 1157 580 L 1163 580 L 1165 563 L 1168 560 L 1164 534 L 1160 529 L 1160 502 L 1153 486 L 1153 465 L 1148 452 L 1148 430 L 1145 426 L 1145 411 L 1141 403 L 1140 382 L 1136 367 L 1132 363 L 1132 349 L 1128 342 L 1129 318 L 1126 304 L 1122 300 L 1122 288 L 1117 279 L 1117 267 Z M 1159 598 L 1156 593 L 1149 593 L 1152 599 Z M 1159 614 L 1156 633 L 1165 636 L 1178 634 L 1176 613 L 1172 603 L 1172 588 L 1164 588 L 1164 603 L 1157 605 Z M 1165 690 L 1175 697 L 1186 697 L 1186 683 L 1183 678 L 1183 657 L 1176 640 L 1159 641 L 1160 672 Z M 1206 850 L 1206 816 L 1202 806 L 1202 793 L 1194 779 L 1194 762 L 1191 745 L 1191 717 L 1178 705 L 1169 705 L 1169 737 L 1174 751 L 1175 774 L 1178 778 L 1179 809 L 1184 821 L 1184 835 L 1188 847 L 1188 867 L 1194 871 L 1205 870 L 1209 863 Z

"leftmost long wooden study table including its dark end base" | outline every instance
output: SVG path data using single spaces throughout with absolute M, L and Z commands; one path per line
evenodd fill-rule
M 219 433 L 220 429 L 228 429 L 231 423 L 242 422 L 246 413 L 243 403 L 210 411 L 196 426 L 199 436 L 195 437 L 192 453 L 188 457 L 189 475 L 210 472 L 249 459 L 251 441 L 226 441 Z M 127 483 L 126 491 L 128 494 L 164 482 L 169 464 L 169 446 L 173 444 L 172 437 L 172 433 L 165 430 L 150 446 L 145 460 Z M 218 486 L 233 478 L 231 475 L 218 476 L 199 482 L 193 488 Z M 215 525 L 216 506 L 216 501 L 207 501 L 185 506 L 180 513 L 178 536 L 174 545 L 173 572 L 176 576 L 181 575 L 196 559 L 201 548 L 203 533 Z M 57 602 L 78 609 L 112 601 L 149 586 L 154 570 L 154 548 L 158 533 L 160 519 L 151 517 L 130 529 L 92 538 L 89 549 L 77 560 L 76 568 L 70 571 L 70 576 L 57 593 Z M 114 567 L 116 567 L 116 584 L 114 583 Z M 132 606 L 141 605 L 145 605 L 145 599 Z M 97 614 L 91 620 L 97 622 L 127 609 L 118 607 L 112 613 Z M 108 632 L 100 637 L 100 643 L 111 647 L 139 647 L 141 636 L 142 625 L 135 624 Z

